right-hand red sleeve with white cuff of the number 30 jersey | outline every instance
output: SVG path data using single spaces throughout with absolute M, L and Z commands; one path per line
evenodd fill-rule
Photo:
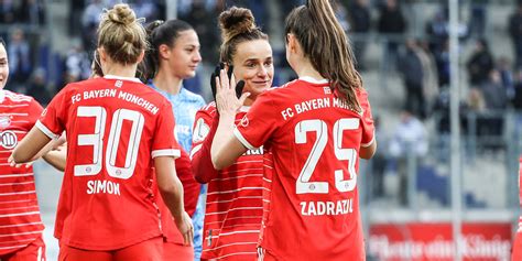
M 174 135 L 175 123 L 171 104 L 164 100 L 157 113 L 155 133 L 152 138 L 152 159 L 156 156 L 180 157 L 181 146 Z

